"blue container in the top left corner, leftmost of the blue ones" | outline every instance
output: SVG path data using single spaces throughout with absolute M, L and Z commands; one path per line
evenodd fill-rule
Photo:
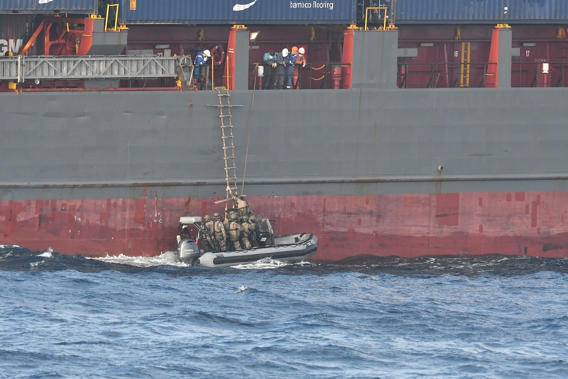
M 0 0 L 0 13 L 98 13 L 98 0 Z

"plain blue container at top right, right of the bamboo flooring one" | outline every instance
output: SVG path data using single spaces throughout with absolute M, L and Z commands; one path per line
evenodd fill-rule
M 558 23 L 567 0 L 393 0 L 395 24 Z

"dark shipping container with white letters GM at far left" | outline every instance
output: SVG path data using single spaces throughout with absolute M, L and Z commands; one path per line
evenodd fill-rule
M 36 15 L 32 14 L 0 14 L 0 56 L 6 52 L 16 54 L 24 41 L 34 30 Z M 33 45 L 28 55 L 37 55 L 37 43 Z

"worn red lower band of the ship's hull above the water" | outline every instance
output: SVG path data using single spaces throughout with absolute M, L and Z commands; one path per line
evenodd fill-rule
M 154 256 L 176 249 L 179 216 L 219 198 L 0 202 L 3 244 L 68 255 Z M 361 254 L 568 257 L 568 192 L 249 197 L 277 234 L 312 232 L 312 260 Z

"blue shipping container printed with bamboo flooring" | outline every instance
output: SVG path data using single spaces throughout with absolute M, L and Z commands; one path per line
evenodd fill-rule
M 122 0 L 121 8 L 127 24 L 352 24 L 357 0 Z

